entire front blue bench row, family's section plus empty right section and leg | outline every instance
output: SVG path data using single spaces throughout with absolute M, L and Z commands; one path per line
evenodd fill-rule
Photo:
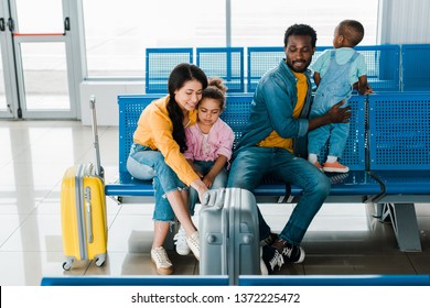
M 106 195 L 151 197 L 151 182 L 135 179 L 127 172 L 132 134 L 143 108 L 162 95 L 119 96 L 119 179 L 106 184 Z M 252 94 L 227 96 L 222 118 L 241 136 L 249 116 Z M 342 163 L 347 174 L 327 174 L 332 182 L 330 196 L 337 202 L 372 202 L 375 217 L 391 222 L 401 251 L 421 251 L 415 202 L 430 200 L 430 94 L 383 92 L 353 96 L 350 138 Z M 326 155 L 326 148 L 320 157 Z M 252 191 L 257 201 L 294 200 L 301 189 L 265 179 Z M 260 197 L 260 199 L 258 198 Z M 329 200 L 327 200 L 329 201 Z

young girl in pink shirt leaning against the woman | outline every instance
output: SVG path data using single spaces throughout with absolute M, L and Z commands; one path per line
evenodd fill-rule
M 185 158 L 208 188 L 222 188 L 227 185 L 226 164 L 232 157 L 235 135 L 233 130 L 219 119 L 225 109 L 225 92 L 227 88 L 219 78 L 212 78 L 202 92 L 197 105 L 197 123 L 185 129 L 187 150 Z M 190 188 L 190 213 L 194 215 L 197 193 Z M 173 238 L 176 252 L 182 255 L 190 253 L 184 229 L 179 229 Z

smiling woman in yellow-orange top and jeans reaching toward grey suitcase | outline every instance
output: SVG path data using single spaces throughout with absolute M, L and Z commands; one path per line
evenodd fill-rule
M 168 87 L 169 95 L 152 101 L 140 116 L 127 161 L 127 168 L 133 177 L 153 178 L 155 208 L 151 260 L 160 275 L 173 273 L 163 243 L 175 218 L 198 260 L 198 232 L 190 216 L 187 187 L 197 191 L 200 200 L 207 190 L 183 155 L 186 150 L 185 128 L 196 122 L 195 108 L 207 87 L 207 77 L 195 65 L 180 64 L 171 72 Z

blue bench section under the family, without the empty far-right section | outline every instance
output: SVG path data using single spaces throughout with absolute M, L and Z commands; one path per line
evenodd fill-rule
M 106 185 L 107 196 L 153 196 L 151 182 L 135 179 L 127 170 L 127 157 L 132 145 L 132 134 L 136 130 L 139 117 L 143 108 L 162 95 L 119 96 L 119 179 L 117 183 Z M 241 131 L 247 124 L 251 94 L 232 94 L 227 96 L 226 110 L 222 118 L 233 129 L 235 143 L 240 139 Z M 365 170 L 365 139 L 364 139 L 364 108 L 365 97 L 354 96 L 350 103 L 353 109 L 350 139 L 345 150 L 343 163 L 347 164 L 351 172 L 344 175 L 329 175 L 332 179 L 331 195 L 373 195 L 380 193 L 380 185 Z M 326 155 L 326 150 L 321 156 Z M 273 179 L 265 179 L 254 194 L 256 196 L 289 197 L 300 196 L 301 188 L 292 186 L 288 191 L 287 186 Z M 288 194 L 289 195 L 289 194 Z

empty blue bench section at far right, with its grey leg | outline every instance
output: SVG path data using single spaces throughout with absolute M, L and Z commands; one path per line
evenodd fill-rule
M 383 185 L 374 201 L 402 251 L 421 251 L 415 204 L 430 200 L 429 119 L 429 92 L 368 97 L 369 170 Z

